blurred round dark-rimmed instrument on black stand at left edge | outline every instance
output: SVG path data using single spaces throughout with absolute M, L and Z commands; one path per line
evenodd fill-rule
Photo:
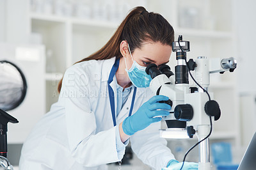
M 19 123 L 7 111 L 11 111 L 26 97 L 27 83 L 20 68 L 10 61 L 0 61 L 0 169 L 13 169 L 8 161 L 7 126 Z M 3 167 L 3 168 L 2 168 Z

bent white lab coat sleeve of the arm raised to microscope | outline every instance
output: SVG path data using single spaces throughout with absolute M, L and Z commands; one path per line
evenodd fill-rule
M 63 77 L 59 99 L 65 100 L 70 154 L 86 167 L 117 162 L 124 155 L 120 154 L 118 157 L 116 151 L 117 126 L 96 134 L 95 114 L 90 107 L 92 81 L 83 68 L 71 66 Z

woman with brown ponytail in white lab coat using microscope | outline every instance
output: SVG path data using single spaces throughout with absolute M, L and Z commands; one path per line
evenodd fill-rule
M 153 169 L 180 169 L 158 132 L 159 116 L 170 109 L 159 101 L 168 97 L 150 92 L 145 73 L 150 63 L 168 63 L 173 40 L 161 15 L 134 8 L 102 49 L 67 69 L 58 102 L 23 145 L 20 170 L 108 169 L 122 160 L 129 141 Z M 185 162 L 182 169 L 197 167 Z

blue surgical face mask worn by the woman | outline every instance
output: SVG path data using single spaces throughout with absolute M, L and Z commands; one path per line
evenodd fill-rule
M 132 57 L 132 53 L 128 44 L 128 49 Z M 126 58 L 125 60 L 125 71 L 128 73 L 129 79 L 131 80 L 132 84 L 137 88 L 147 88 L 152 81 L 152 78 L 150 75 L 148 75 L 145 70 L 145 66 L 140 66 L 133 58 L 133 64 L 132 67 L 128 70 L 127 64 L 126 64 Z

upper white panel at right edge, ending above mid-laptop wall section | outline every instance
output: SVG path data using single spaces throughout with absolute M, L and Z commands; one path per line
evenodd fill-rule
M 256 91 L 255 64 L 256 64 L 256 1 L 236 0 L 235 22 L 237 33 L 237 74 L 239 92 Z

